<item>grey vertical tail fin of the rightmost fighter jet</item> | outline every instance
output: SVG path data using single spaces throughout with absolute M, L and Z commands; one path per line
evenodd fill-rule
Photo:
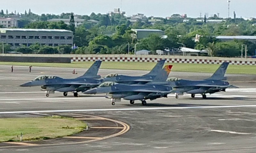
M 220 67 L 215 71 L 215 73 L 212 74 L 212 76 L 205 80 L 226 80 L 227 78 L 224 77 L 227 68 L 228 68 L 229 62 L 224 62 L 220 65 Z

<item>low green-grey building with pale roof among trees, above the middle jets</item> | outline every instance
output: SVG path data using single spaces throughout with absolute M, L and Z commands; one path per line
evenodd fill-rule
M 164 31 L 158 29 L 132 29 L 135 32 L 137 39 L 147 38 L 151 34 L 158 34 L 164 36 Z

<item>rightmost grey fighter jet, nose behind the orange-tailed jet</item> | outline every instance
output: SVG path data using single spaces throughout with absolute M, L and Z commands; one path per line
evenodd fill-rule
M 195 98 L 195 94 L 201 94 L 206 99 L 206 94 L 213 94 L 220 91 L 226 91 L 229 87 L 235 87 L 230 85 L 227 81 L 227 77 L 224 77 L 228 62 L 224 62 L 220 65 L 215 73 L 210 78 L 205 80 L 183 80 L 179 78 L 168 78 L 169 85 L 173 88 L 172 93 L 176 94 L 176 99 L 179 98 L 179 94 L 187 93 L 191 94 L 192 98 Z M 236 88 L 236 87 L 235 87 Z

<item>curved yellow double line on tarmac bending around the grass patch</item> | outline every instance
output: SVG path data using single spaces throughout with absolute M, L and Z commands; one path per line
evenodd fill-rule
M 121 121 L 114 120 L 114 119 L 110 119 L 110 118 L 105 118 L 105 117 L 100 117 L 100 116 L 92 116 L 92 115 L 80 115 L 80 114 L 65 114 L 65 113 L 61 113 L 61 114 L 62 115 L 79 115 L 79 116 L 93 117 L 95 119 L 107 120 L 107 121 L 115 122 L 115 123 L 118 123 L 118 124 L 122 125 L 123 129 L 121 131 L 119 131 L 118 133 L 115 133 L 115 134 L 112 134 L 112 135 L 109 135 L 109 136 L 104 136 L 104 137 L 101 137 L 99 139 L 93 139 L 93 140 L 87 140 L 87 141 L 80 141 L 80 142 L 73 142 L 73 143 L 4 146 L 4 147 L 0 147 L 0 148 L 17 148 L 17 147 L 30 147 L 30 146 L 40 147 L 40 146 L 57 146 L 57 145 L 71 145 L 71 144 L 89 143 L 89 142 L 100 141 L 100 140 L 104 140 L 104 139 L 120 136 L 120 135 L 123 135 L 124 133 L 126 133 L 126 132 L 128 132 L 130 130 L 130 126 L 128 124 L 126 124 L 124 122 L 121 122 Z M 65 139 L 65 138 L 63 138 L 63 139 Z

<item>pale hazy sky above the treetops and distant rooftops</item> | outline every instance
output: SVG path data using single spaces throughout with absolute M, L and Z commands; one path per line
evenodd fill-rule
M 230 0 L 230 17 L 256 17 L 256 0 Z M 121 7 L 122 6 L 122 7 Z M 187 14 L 199 17 L 207 12 L 210 16 L 220 13 L 228 17 L 227 0 L 3 0 L 0 9 L 11 13 L 24 13 L 29 10 L 36 14 L 75 14 L 90 15 L 92 12 L 105 14 L 114 8 L 121 8 L 128 16 L 143 13 L 147 17 L 169 17 L 172 14 Z

